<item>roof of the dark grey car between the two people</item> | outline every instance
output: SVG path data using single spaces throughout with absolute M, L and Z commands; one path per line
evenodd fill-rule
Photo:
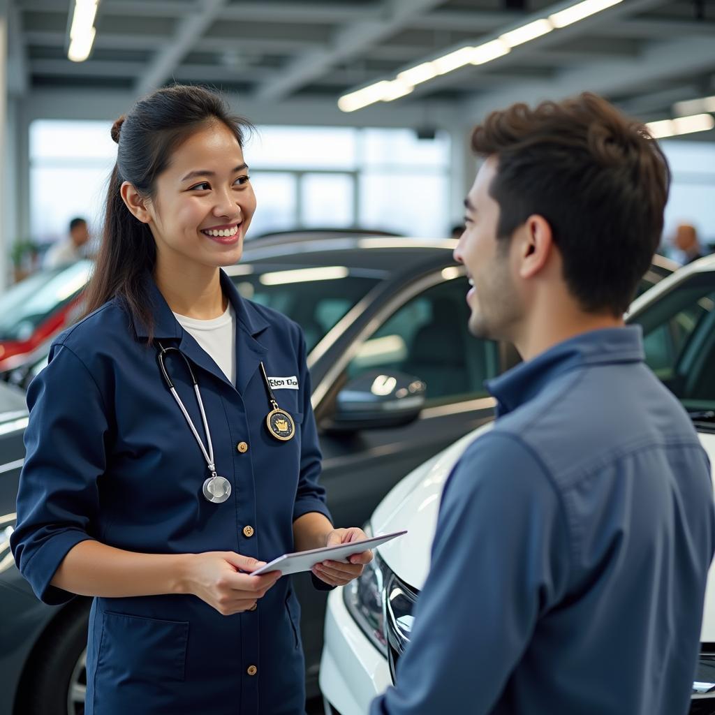
M 242 275 L 245 265 L 259 270 L 298 268 L 305 266 L 345 266 L 350 270 L 380 273 L 408 269 L 428 262 L 452 262 L 457 245 L 454 239 L 423 239 L 403 237 L 340 237 L 325 238 L 270 246 L 245 245 L 240 264 L 227 267 L 228 275 Z

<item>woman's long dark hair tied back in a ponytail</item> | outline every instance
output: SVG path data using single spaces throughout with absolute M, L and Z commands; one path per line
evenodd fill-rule
M 112 126 L 117 149 L 107 189 L 102 246 L 87 288 L 87 313 L 113 297 L 122 299 L 134 320 L 147 327 L 152 339 L 147 272 L 154 270 L 156 245 L 149 227 L 132 215 L 122 200 L 122 182 L 129 182 L 142 197 L 153 198 L 157 177 L 180 144 L 213 122 L 225 124 L 243 146 L 252 125 L 230 114 L 225 99 L 203 87 L 164 87 L 140 99 Z

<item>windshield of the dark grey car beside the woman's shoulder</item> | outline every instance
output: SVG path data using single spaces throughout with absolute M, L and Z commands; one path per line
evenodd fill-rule
M 241 295 L 295 320 L 303 329 L 307 352 L 380 282 L 337 267 L 266 271 L 244 265 L 242 270 L 256 272 L 232 275 Z

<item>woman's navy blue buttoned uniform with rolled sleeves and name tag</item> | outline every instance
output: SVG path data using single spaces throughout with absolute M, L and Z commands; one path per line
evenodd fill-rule
M 202 496 L 209 473 L 199 446 L 159 373 L 157 350 L 147 347 L 146 327 L 117 300 L 63 332 L 30 385 L 11 546 L 45 603 L 72 598 L 50 581 L 66 553 L 86 539 L 142 553 L 235 551 L 270 561 L 292 551 L 295 519 L 308 512 L 330 518 L 318 485 L 320 449 L 302 332 L 240 297 L 223 272 L 221 282 L 237 317 L 235 387 L 149 280 L 154 337 L 178 345 L 197 375 L 217 473 L 232 484 L 225 503 Z M 265 427 L 271 408 L 261 360 L 268 375 L 298 379 L 298 390 L 275 391 L 295 420 L 288 442 Z M 204 436 L 183 361 L 174 354 L 167 368 Z M 245 452 L 237 448 L 241 442 Z M 246 526 L 254 529 L 250 537 Z M 195 596 L 95 598 L 86 713 L 302 713 L 299 615 L 288 578 L 255 611 L 234 616 Z

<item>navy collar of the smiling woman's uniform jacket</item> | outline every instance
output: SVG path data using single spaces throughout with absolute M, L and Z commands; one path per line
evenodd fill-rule
M 236 289 L 233 281 L 228 277 L 225 271 L 220 270 L 221 289 L 225 296 L 230 300 L 233 310 L 236 314 L 236 324 L 242 330 L 245 330 L 249 335 L 255 337 L 260 332 L 268 327 L 268 322 L 263 318 L 255 307 Z M 154 317 L 154 338 L 157 340 L 175 338 L 180 340 L 184 334 L 184 329 L 179 325 L 179 322 L 174 317 L 172 309 L 164 299 L 161 291 L 157 287 L 154 277 L 147 272 L 144 276 L 147 282 L 147 292 L 149 294 L 149 309 Z M 141 320 L 134 319 L 134 332 L 137 337 L 149 337 L 149 330 Z

